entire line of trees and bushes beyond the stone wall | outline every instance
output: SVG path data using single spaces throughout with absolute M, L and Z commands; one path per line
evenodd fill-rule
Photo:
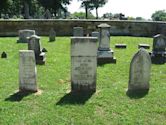
M 85 12 L 68 12 L 67 5 L 72 0 L 0 0 L 0 18 L 74 18 L 98 19 L 98 8 L 103 7 L 108 0 L 77 0 Z M 96 16 L 91 13 L 96 10 Z M 102 19 L 119 20 L 145 20 L 142 17 L 125 17 L 124 14 L 105 13 Z M 166 21 L 166 10 L 158 10 L 151 16 L 153 21 Z

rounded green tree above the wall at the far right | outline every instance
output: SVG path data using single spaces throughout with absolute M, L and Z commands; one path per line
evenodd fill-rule
M 158 10 L 152 14 L 153 21 L 166 21 L 166 10 Z

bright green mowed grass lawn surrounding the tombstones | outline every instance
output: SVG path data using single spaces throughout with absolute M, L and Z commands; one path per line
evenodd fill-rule
M 111 37 L 117 64 L 97 68 L 97 91 L 83 103 L 77 103 L 70 92 L 70 37 L 56 42 L 41 38 L 46 64 L 37 65 L 40 93 L 18 95 L 19 50 L 27 44 L 16 43 L 16 37 L 0 38 L 0 125 L 165 125 L 166 64 L 152 65 L 150 90 L 142 97 L 126 95 L 131 59 L 139 43 L 152 46 L 151 38 Z M 116 43 L 127 49 L 115 49 Z M 148 51 L 151 51 L 149 49 Z

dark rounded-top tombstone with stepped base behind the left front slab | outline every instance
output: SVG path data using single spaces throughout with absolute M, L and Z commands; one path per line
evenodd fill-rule
M 36 35 L 28 37 L 28 50 L 34 51 L 36 64 L 45 64 L 46 56 L 41 50 L 40 37 Z

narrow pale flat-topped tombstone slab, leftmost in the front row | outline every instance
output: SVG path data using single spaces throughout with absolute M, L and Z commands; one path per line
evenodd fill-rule
M 20 50 L 19 55 L 19 90 L 36 92 L 38 87 L 34 51 Z

